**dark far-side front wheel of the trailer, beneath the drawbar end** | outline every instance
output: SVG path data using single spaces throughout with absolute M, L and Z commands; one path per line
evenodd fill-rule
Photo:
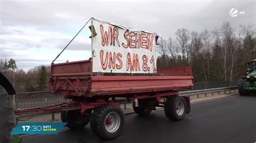
M 89 116 L 82 115 L 79 110 L 69 110 L 62 113 L 63 116 L 66 115 L 66 118 L 62 117 L 62 121 L 68 122 L 66 126 L 73 130 L 83 129 L 90 120 Z

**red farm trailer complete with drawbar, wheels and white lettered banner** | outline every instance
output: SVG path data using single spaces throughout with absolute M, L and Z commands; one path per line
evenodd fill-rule
M 139 116 L 149 115 L 156 107 L 164 108 L 166 117 L 175 121 L 190 113 L 190 99 L 179 96 L 179 90 L 192 88 L 191 66 L 156 69 L 156 34 L 93 18 L 91 25 L 90 60 L 53 63 L 68 44 L 51 64 L 52 93 L 71 102 L 19 110 L 16 115 L 60 111 L 67 127 L 80 129 L 90 122 L 98 137 L 113 139 L 124 126 L 120 98 L 133 102 Z M 126 64 L 122 67 L 122 63 Z

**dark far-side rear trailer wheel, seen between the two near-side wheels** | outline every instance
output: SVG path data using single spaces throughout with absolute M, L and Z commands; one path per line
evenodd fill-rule
M 137 115 L 139 116 L 149 116 L 151 111 L 152 111 L 152 106 L 147 105 L 146 101 L 138 101 L 139 102 L 139 106 L 136 107 L 135 103 L 133 102 L 133 111 L 135 113 L 137 113 Z

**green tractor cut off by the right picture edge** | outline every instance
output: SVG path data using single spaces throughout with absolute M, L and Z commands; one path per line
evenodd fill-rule
M 247 68 L 247 76 L 242 77 L 238 83 L 238 92 L 240 95 L 249 95 L 256 91 L 256 59 L 244 63 Z

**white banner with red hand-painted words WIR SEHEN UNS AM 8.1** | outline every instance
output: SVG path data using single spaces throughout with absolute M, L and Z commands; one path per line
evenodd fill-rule
M 93 72 L 156 73 L 156 34 L 92 19 Z

